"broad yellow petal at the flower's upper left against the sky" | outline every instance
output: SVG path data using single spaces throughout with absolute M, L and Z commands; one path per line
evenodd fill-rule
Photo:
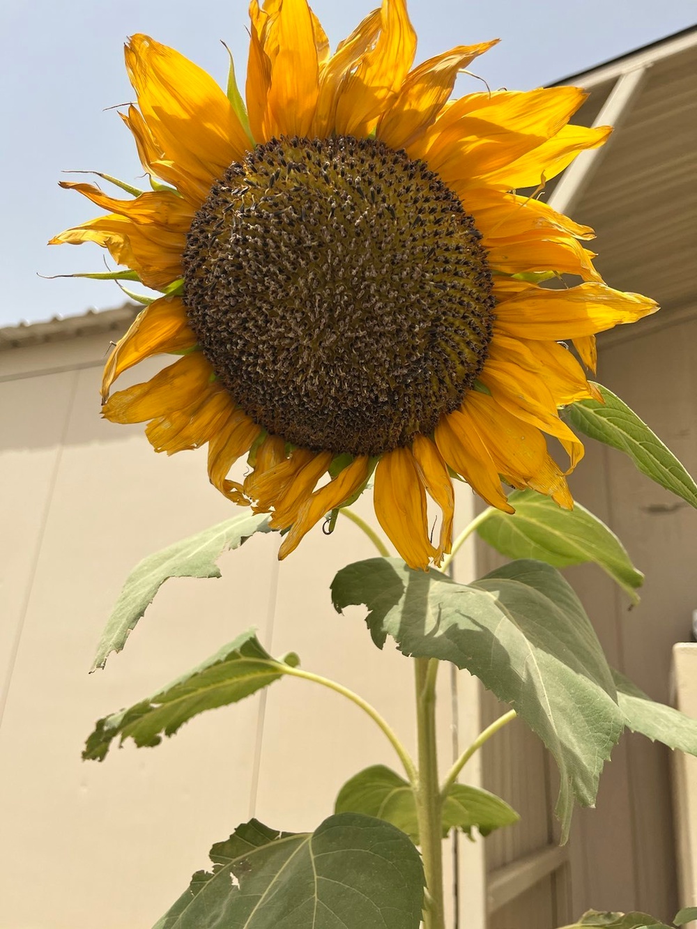
M 196 190 L 206 183 L 209 189 L 231 162 L 243 160 L 249 148 L 243 125 L 206 72 L 142 34 L 125 46 L 125 63 L 151 136 Z

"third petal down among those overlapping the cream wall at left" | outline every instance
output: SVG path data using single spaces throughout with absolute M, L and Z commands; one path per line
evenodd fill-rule
M 166 451 L 168 455 L 198 449 L 217 435 L 233 409 L 230 394 L 217 386 L 186 410 L 174 410 L 151 420 L 145 435 L 155 451 Z

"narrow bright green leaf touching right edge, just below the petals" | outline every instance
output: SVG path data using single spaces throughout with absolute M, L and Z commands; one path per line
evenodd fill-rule
M 612 390 L 598 384 L 605 403 L 579 400 L 566 415 L 580 432 L 629 455 L 639 471 L 697 507 L 697 484 L 655 433 Z

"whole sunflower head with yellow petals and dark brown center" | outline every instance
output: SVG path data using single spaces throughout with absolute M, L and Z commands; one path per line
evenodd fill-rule
M 413 68 L 404 0 L 383 0 L 334 55 L 307 0 L 252 0 L 250 19 L 246 106 L 232 70 L 226 94 L 134 35 L 138 105 L 121 116 L 152 190 L 62 184 L 109 212 L 51 242 L 98 242 L 162 294 L 112 352 L 104 416 L 147 423 L 155 451 L 207 443 L 211 482 L 272 514 L 282 558 L 371 478 L 413 568 L 450 550 L 453 478 L 509 513 L 504 485 L 572 507 L 583 445 L 559 408 L 597 390 L 560 340 L 595 369 L 595 334 L 657 307 L 602 281 L 592 229 L 515 191 L 541 190 L 610 128 L 569 124 L 575 87 L 451 100 L 494 43 Z M 161 353 L 178 359 L 110 397 Z M 243 456 L 247 476 L 230 480 Z

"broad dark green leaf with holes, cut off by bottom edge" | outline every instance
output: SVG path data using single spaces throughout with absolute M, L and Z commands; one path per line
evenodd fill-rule
M 414 844 L 387 822 L 345 813 L 314 832 L 256 819 L 210 852 L 213 869 L 154 929 L 418 929 L 424 871 Z

